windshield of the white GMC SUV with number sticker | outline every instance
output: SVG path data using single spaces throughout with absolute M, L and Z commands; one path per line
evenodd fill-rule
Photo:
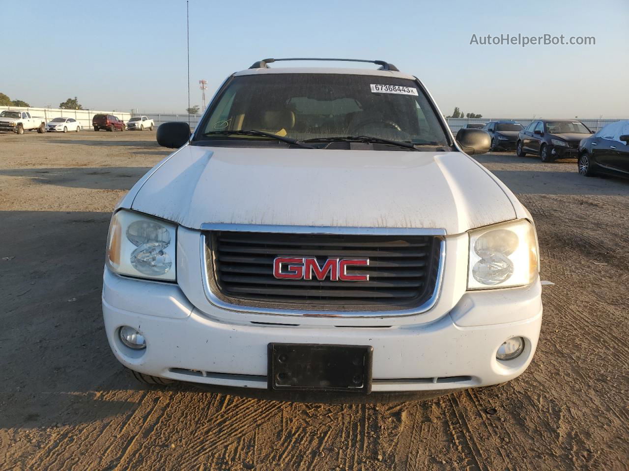
M 300 141 L 369 136 L 448 146 L 435 112 L 413 80 L 369 75 L 235 77 L 199 127 L 195 140 L 268 139 L 226 133 L 255 130 Z

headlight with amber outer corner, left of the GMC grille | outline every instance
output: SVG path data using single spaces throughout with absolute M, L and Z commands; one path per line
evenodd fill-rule
M 114 272 L 175 281 L 177 226 L 133 211 L 111 218 L 106 262 Z

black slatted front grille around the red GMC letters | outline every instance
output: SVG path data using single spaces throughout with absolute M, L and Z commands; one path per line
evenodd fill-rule
M 438 278 L 439 237 L 274 234 L 213 231 L 206 234 L 208 281 L 231 304 L 299 310 L 396 310 L 428 301 Z M 277 279 L 276 257 L 369 259 L 348 274 L 368 281 Z

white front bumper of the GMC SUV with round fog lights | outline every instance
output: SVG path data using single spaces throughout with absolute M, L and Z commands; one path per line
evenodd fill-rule
M 177 284 L 104 271 L 106 333 L 123 365 L 179 381 L 257 389 L 267 388 L 271 342 L 372 345 L 374 393 L 448 391 L 508 381 L 525 371 L 535 353 L 541 286 L 537 281 L 526 288 L 467 292 L 448 313 L 418 325 L 337 327 L 343 323 L 338 318 L 330 325 L 269 325 L 226 322 L 222 314 L 218 307 L 199 311 Z M 483 325 L 488 315 L 518 320 Z M 144 335 L 145 350 L 122 344 L 118 330 L 123 325 Z M 525 338 L 525 350 L 501 362 L 496 351 L 510 337 Z

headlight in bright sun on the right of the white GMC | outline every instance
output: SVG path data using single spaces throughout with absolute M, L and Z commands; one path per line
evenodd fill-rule
M 537 236 L 525 219 L 469 232 L 468 290 L 524 286 L 538 273 Z

